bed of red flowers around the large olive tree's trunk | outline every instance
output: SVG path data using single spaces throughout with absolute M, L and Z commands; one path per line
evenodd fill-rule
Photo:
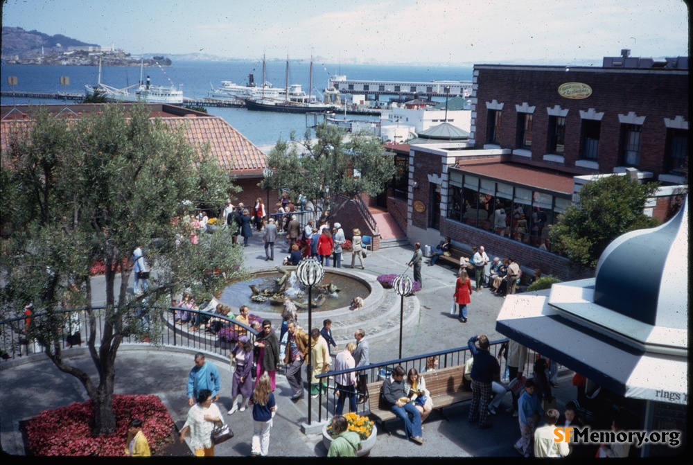
M 142 432 L 149 441 L 152 455 L 170 444 L 175 425 L 157 396 L 114 394 L 113 413 L 116 416 L 116 432 L 91 437 L 89 421 L 94 416 L 91 401 L 44 410 L 26 423 L 30 453 L 43 457 L 122 457 L 127 446 L 128 425 L 133 418 L 142 420 Z

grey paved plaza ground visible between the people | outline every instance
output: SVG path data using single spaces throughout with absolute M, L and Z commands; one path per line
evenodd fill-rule
M 251 269 L 265 267 L 264 249 L 260 238 L 254 236 L 251 246 L 245 248 L 247 266 Z M 279 247 L 284 250 L 283 247 Z M 365 272 L 373 274 L 399 273 L 407 270 L 413 253 L 412 247 L 383 249 L 369 254 Z M 275 254 L 277 250 L 275 249 Z M 279 256 L 282 256 L 281 252 Z M 408 271 L 411 273 L 411 271 Z M 495 331 L 495 319 L 502 306 L 502 297 L 491 295 L 488 290 L 474 292 L 469 308 L 468 323 L 462 324 L 450 317 L 450 304 L 455 285 L 455 272 L 439 265 L 423 266 L 424 288 L 416 292 L 421 301 L 421 317 L 415 324 L 404 328 L 403 356 L 428 353 L 466 345 L 471 335 L 486 333 L 491 340 L 503 337 Z M 95 299 L 101 298 L 96 295 Z M 252 310 L 251 310 L 252 311 Z M 364 328 L 368 337 L 368 328 Z M 67 356 L 83 369 L 94 373 L 85 349 L 69 349 Z M 398 334 L 390 340 L 371 344 L 371 362 L 392 360 L 398 356 Z M 28 360 L 28 359 L 27 359 Z M 226 414 L 231 404 L 231 373 L 228 364 L 212 360 L 222 375 L 220 410 Z M 157 349 L 139 344 L 124 344 L 116 360 L 116 393 L 156 394 L 167 405 L 178 427 L 182 426 L 188 411 L 185 384 L 188 371 L 193 367 L 193 353 L 170 348 Z M 305 380 L 305 371 L 304 371 Z M 3 450 L 13 455 L 24 455 L 19 421 L 48 408 L 84 401 L 87 396 L 82 385 L 67 374 L 62 374 L 48 360 L 24 365 L 8 366 L 0 371 L 0 432 Z M 270 456 L 324 457 L 321 434 L 304 434 L 302 424 L 307 421 L 307 397 L 300 401 L 290 400 L 290 387 L 283 375 L 277 376 L 277 416 L 270 438 Z M 559 380 L 554 395 L 559 409 L 574 398 L 570 378 Z M 433 412 L 424 423 L 423 446 L 404 439 L 401 422 L 390 421 L 388 430 L 378 428 L 378 441 L 371 450 L 371 457 L 518 457 L 512 444 L 519 437 L 518 422 L 505 409 L 511 405 L 510 394 L 503 399 L 498 414 L 489 416 L 493 423 L 490 430 L 480 430 L 467 423 L 469 405 L 448 407 L 444 414 Z M 322 420 L 326 420 L 322 411 Z M 252 412 L 236 412 L 225 415 L 231 423 L 235 437 L 220 444 L 216 455 L 248 456 L 252 437 Z M 317 400 L 313 402 L 312 423 L 318 423 Z

